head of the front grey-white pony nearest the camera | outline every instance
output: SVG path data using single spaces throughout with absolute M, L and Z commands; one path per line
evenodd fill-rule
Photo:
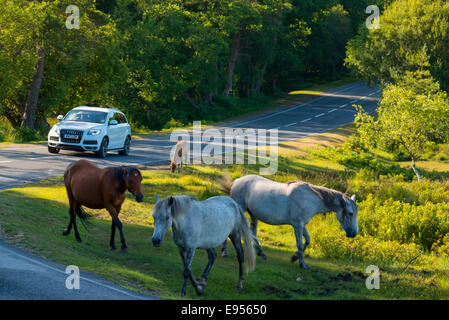
M 174 207 L 175 199 L 173 197 L 168 197 L 161 201 L 159 196 L 156 195 L 156 205 L 153 208 L 154 232 L 151 238 L 153 246 L 159 247 L 164 235 L 171 228 Z

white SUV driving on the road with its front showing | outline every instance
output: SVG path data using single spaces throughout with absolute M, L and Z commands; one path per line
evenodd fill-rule
M 100 158 L 108 151 L 128 155 L 131 127 L 123 112 L 117 109 L 80 106 L 65 117 L 58 116 L 48 133 L 48 152 L 62 150 L 93 151 Z

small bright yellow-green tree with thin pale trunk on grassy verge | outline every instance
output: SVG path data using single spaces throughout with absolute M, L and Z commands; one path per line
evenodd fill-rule
M 377 118 L 357 107 L 355 122 L 363 141 L 386 151 L 400 150 L 416 161 L 429 146 L 449 141 L 449 100 L 428 71 L 407 72 L 383 91 Z

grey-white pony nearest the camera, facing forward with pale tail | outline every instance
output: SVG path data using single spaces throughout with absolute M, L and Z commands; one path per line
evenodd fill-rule
M 237 251 L 239 261 L 239 281 L 237 290 L 243 288 L 242 264 L 246 271 L 254 270 L 256 253 L 254 238 L 248 227 L 242 209 L 230 197 L 217 196 L 205 201 L 198 201 L 190 196 L 173 196 L 159 200 L 153 209 L 154 233 L 153 245 L 159 247 L 165 233 L 172 228 L 173 241 L 178 246 L 184 263 L 184 283 L 181 297 L 186 294 L 187 279 L 190 277 L 198 295 L 204 293 L 206 280 L 212 264 L 217 258 L 215 247 L 228 237 Z M 244 246 L 241 238 L 243 235 Z M 195 249 L 206 249 L 209 261 L 201 280 L 197 282 L 190 270 Z

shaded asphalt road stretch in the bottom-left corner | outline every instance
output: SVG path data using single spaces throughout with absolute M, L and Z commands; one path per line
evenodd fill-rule
M 79 289 L 68 289 L 66 266 L 0 240 L 0 300 L 149 300 L 94 274 L 80 271 Z M 69 283 L 71 283 L 69 281 Z

